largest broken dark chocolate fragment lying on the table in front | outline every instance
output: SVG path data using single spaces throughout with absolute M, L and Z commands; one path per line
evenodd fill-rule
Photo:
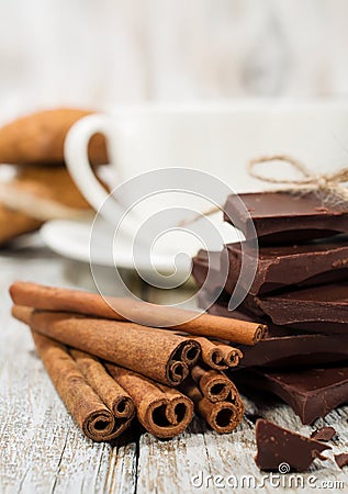
M 261 470 L 277 470 L 280 473 L 288 473 L 290 470 L 304 472 L 315 458 L 325 459 L 321 456 L 322 451 L 330 449 L 323 442 L 279 427 L 263 418 L 256 423 L 256 464 Z

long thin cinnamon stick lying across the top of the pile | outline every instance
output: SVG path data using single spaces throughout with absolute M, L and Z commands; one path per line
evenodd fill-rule
M 132 299 L 103 297 L 80 290 L 45 287 L 16 281 L 10 288 L 14 304 L 47 311 L 67 311 L 116 321 L 134 321 L 145 326 L 166 327 L 193 335 L 244 345 L 255 345 L 267 334 L 263 324 L 200 314 Z

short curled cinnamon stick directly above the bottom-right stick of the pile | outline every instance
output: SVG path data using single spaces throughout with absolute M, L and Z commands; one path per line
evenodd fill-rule
M 205 370 L 200 366 L 194 366 L 191 369 L 191 378 L 201 393 L 211 402 L 229 401 L 243 408 L 236 386 L 223 372 L 216 372 L 212 369 Z

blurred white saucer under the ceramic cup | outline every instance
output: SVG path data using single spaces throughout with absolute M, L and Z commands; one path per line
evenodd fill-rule
M 215 222 L 214 222 L 215 223 Z M 236 242 L 238 236 L 235 229 L 218 220 L 217 229 L 222 235 L 222 243 L 209 245 L 210 250 L 221 250 L 224 242 Z M 215 225 L 216 226 L 216 225 Z M 44 243 L 55 252 L 82 262 L 96 266 L 104 266 L 123 269 L 137 269 L 139 274 L 147 280 L 156 281 L 156 277 L 161 279 L 168 276 L 169 284 L 183 282 L 191 272 L 191 257 L 194 256 L 202 245 L 194 238 L 184 239 L 178 237 L 168 238 L 160 245 L 157 251 L 151 251 L 150 257 L 144 256 L 134 266 L 133 249 L 127 238 L 117 238 L 116 249 L 110 249 L 112 240 L 110 227 L 106 223 L 99 223 L 98 232 L 93 232 L 98 242 L 92 243 L 92 255 L 90 247 L 92 221 L 49 221 L 41 228 Z M 189 240 L 189 242 L 188 242 Z M 179 254 L 179 255 L 178 255 Z

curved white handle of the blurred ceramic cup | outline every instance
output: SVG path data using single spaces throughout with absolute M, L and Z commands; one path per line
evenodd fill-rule
M 77 121 L 64 143 L 64 156 L 68 171 L 87 201 L 98 211 L 108 198 L 88 159 L 88 144 L 94 134 L 111 134 L 112 122 L 102 114 L 92 114 Z

